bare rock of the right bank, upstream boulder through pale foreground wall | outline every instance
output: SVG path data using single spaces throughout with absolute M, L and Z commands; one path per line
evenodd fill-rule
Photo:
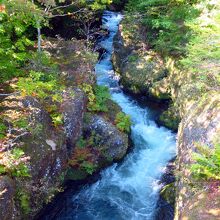
M 129 31 L 133 25 L 134 33 Z M 219 90 L 202 91 L 190 72 L 177 69 L 173 59 L 161 58 L 149 50 L 141 30 L 140 25 L 124 21 L 115 37 L 113 62 L 121 84 L 125 90 L 155 101 L 170 100 L 160 123 L 178 129 L 176 219 L 218 219 L 218 187 L 204 182 L 203 187 L 194 190 L 189 167 L 196 143 L 211 148 L 214 142 L 219 143 Z

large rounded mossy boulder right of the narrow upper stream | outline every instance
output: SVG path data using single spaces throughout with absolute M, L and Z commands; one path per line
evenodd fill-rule
M 161 57 L 145 50 L 142 39 L 126 36 L 126 24 L 122 24 L 114 38 L 113 63 L 121 77 L 125 90 L 135 94 L 145 94 L 157 99 L 169 99 L 168 87 L 159 85 L 167 76 L 167 70 Z M 136 42 L 137 41 L 137 42 Z M 156 89 L 152 90 L 152 87 Z

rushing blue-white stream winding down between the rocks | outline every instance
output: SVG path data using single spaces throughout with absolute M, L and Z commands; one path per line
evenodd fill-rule
M 106 49 L 96 65 L 98 84 L 109 86 L 112 99 L 131 116 L 134 150 L 121 164 L 104 170 L 101 178 L 71 198 L 72 207 L 56 219 L 152 220 L 158 200 L 159 184 L 167 162 L 175 156 L 175 135 L 158 127 L 142 108 L 119 88 L 111 63 L 113 37 L 122 16 L 106 11 L 103 24 L 109 36 L 101 41 Z

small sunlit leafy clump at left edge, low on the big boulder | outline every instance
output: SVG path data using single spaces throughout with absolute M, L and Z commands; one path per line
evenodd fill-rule
M 26 165 L 28 157 L 19 148 L 14 148 L 0 155 L 0 174 L 9 174 L 13 177 L 30 177 Z

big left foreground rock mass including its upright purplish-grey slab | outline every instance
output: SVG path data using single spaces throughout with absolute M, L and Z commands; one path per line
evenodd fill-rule
M 50 114 L 34 97 L 9 96 L 1 107 L 11 133 L 0 150 L 7 152 L 20 148 L 29 158 L 27 166 L 30 177 L 14 179 L 16 190 L 28 201 L 27 209 L 31 211 L 24 213 L 22 201 L 14 197 L 13 214 L 16 218 L 34 216 L 63 183 L 68 155 L 82 134 L 86 98 L 79 89 L 69 89 L 63 93 L 60 114 L 64 115 L 64 124 L 59 127 L 54 126 Z

